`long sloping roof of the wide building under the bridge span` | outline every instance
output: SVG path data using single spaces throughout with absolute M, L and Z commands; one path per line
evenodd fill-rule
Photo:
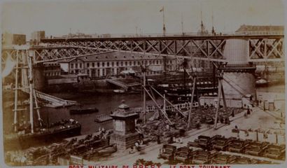
M 76 57 L 71 59 L 63 59 L 59 61 L 59 63 L 69 63 L 75 59 L 80 59 L 83 62 L 97 62 L 97 61 L 133 61 L 133 60 L 149 60 L 149 59 L 162 59 L 162 56 L 158 55 L 143 55 L 138 53 L 131 52 L 109 52 L 99 55 L 90 55 L 84 57 Z M 169 59 L 173 59 L 174 57 L 168 57 Z

